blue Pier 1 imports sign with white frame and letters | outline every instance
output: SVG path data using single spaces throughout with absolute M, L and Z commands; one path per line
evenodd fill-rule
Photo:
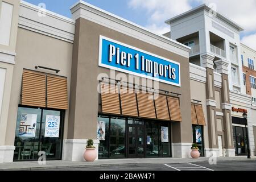
M 176 61 L 100 36 L 99 66 L 180 86 Z

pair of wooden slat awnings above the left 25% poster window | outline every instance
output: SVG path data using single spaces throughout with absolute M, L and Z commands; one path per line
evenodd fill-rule
M 21 95 L 22 105 L 68 109 L 66 77 L 24 69 Z

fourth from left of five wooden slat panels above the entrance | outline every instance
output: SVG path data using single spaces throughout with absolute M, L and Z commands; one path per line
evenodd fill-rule
M 170 121 L 170 115 L 169 115 L 166 96 L 158 94 L 158 96 L 154 95 L 154 98 L 155 98 L 156 117 L 158 119 Z

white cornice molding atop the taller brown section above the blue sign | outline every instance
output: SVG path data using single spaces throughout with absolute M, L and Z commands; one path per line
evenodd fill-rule
M 79 1 L 73 5 L 71 7 L 71 13 L 74 20 L 84 18 L 112 30 L 122 32 L 122 34 L 142 40 L 143 42 L 174 52 L 183 57 L 189 57 L 190 47 L 169 39 L 166 36 L 155 34 L 138 24 L 90 5 L 84 1 Z

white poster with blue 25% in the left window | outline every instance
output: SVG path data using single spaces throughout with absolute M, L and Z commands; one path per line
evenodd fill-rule
M 60 133 L 60 116 L 46 115 L 44 137 L 58 138 Z

